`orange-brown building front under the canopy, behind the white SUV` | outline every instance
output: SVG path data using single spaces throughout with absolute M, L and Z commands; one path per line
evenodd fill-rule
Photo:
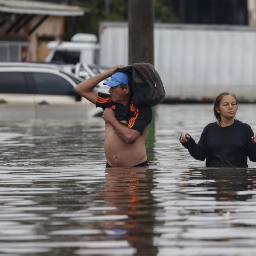
M 65 26 L 65 17 L 49 16 L 32 31 L 44 17 L 2 13 L 0 22 L 5 23 L 0 26 L 0 61 L 44 61 L 50 52 L 47 43 L 61 41 Z

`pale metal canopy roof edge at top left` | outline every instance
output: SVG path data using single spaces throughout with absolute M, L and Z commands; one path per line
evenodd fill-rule
M 82 16 L 88 9 L 79 6 L 66 6 L 63 4 L 43 3 L 28 0 L 0 0 L 0 12 L 54 15 L 54 16 Z

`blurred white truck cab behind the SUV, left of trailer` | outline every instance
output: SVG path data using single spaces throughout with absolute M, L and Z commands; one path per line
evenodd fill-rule
M 81 33 L 73 35 L 70 42 L 51 41 L 47 47 L 52 50 L 45 61 L 56 64 L 95 64 L 100 48 L 97 41 L 96 35 Z

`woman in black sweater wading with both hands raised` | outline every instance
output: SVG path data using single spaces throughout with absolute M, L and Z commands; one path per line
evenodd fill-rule
M 180 143 L 196 160 L 206 158 L 206 167 L 248 167 L 247 157 L 256 162 L 256 134 L 235 119 L 237 108 L 234 94 L 221 93 L 213 108 L 217 121 L 204 128 L 198 144 L 187 133 L 180 136 Z

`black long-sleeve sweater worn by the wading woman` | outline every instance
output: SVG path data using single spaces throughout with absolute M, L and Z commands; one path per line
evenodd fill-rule
M 204 128 L 198 144 L 190 138 L 182 145 L 206 167 L 248 167 L 247 157 L 256 162 L 256 144 L 251 140 L 250 125 L 236 120 L 233 125 L 221 127 L 215 122 Z

